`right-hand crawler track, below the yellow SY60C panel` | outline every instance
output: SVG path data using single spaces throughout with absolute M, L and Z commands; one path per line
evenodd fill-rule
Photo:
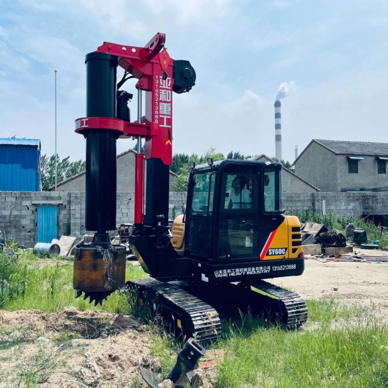
M 307 321 L 306 302 L 296 292 L 285 290 L 264 280 L 250 283 L 250 286 L 265 292 L 279 302 L 281 323 L 286 329 L 297 329 Z

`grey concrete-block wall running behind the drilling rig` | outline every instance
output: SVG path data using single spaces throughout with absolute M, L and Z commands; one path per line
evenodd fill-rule
M 388 214 L 388 193 L 283 193 L 286 210 L 314 210 L 322 214 L 334 210 L 337 216 Z M 85 193 L 78 192 L 0 192 L 0 230 L 31 247 L 36 242 L 36 207 L 58 206 L 58 234 L 85 233 Z M 186 193 L 170 193 L 169 218 L 182 214 Z M 117 193 L 117 224 L 133 222 L 134 193 Z

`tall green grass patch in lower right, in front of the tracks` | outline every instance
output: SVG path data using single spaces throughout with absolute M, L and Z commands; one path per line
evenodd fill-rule
M 387 327 L 368 310 L 359 315 L 359 310 L 333 301 L 308 305 L 312 319 L 322 323 L 352 319 L 340 328 L 321 324 L 302 332 L 258 327 L 246 336 L 234 328 L 218 343 L 233 357 L 218 366 L 216 387 L 383 387 L 388 376 Z

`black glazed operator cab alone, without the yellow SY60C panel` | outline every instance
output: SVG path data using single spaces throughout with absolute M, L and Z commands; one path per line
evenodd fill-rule
M 194 168 L 185 256 L 219 264 L 257 260 L 266 224 L 276 227 L 285 218 L 281 205 L 280 163 L 225 161 Z

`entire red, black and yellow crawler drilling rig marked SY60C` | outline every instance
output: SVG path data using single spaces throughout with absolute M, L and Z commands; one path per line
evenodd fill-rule
M 300 327 L 307 321 L 305 301 L 263 280 L 304 271 L 299 220 L 282 209 L 280 163 L 191 163 L 186 211 L 169 226 L 173 94 L 189 92 L 196 74 L 189 61 L 172 59 L 164 43 L 157 33 L 145 47 L 104 42 L 86 55 L 86 116 L 76 120 L 76 132 L 86 139 L 85 227 L 96 232 L 91 245 L 76 248 L 77 296 L 97 304 L 115 290 L 134 290 L 177 336 L 200 342 L 220 336 L 219 313 L 226 309 L 271 310 L 286 328 Z M 118 83 L 117 66 L 125 71 Z M 138 80 L 135 122 L 127 105 L 132 95 L 119 90 L 129 78 Z M 108 231 L 116 227 L 116 141 L 133 137 L 129 243 L 150 277 L 126 283 L 125 248 L 112 245 Z

